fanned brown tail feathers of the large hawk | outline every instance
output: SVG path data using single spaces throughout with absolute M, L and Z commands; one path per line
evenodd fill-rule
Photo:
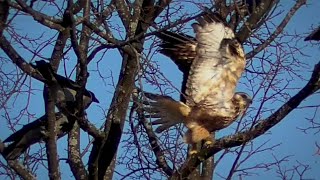
M 144 93 L 149 100 L 143 101 L 146 105 L 144 111 L 145 116 L 150 118 L 158 118 L 153 121 L 152 125 L 160 125 L 157 133 L 169 129 L 179 123 L 185 122 L 186 117 L 190 113 L 190 107 L 180 101 L 175 101 L 169 96 L 161 96 L 152 93 Z

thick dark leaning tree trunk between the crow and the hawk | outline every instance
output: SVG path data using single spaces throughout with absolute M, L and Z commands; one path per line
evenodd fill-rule
M 150 1 L 144 1 L 142 5 L 142 19 L 140 19 L 136 27 L 135 34 L 145 33 L 151 22 L 157 17 L 156 15 L 158 14 L 153 14 L 154 16 L 146 17 L 149 12 L 153 12 L 150 11 L 150 8 L 152 8 L 152 4 L 153 3 Z M 157 9 L 159 8 L 161 8 L 161 10 L 157 11 L 157 13 L 161 13 L 164 7 L 157 7 Z M 146 18 L 144 19 L 143 17 Z M 132 28 L 132 26 L 130 27 Z M 112 160 L 114 159 L 114 156 L 117 152 L 122 134 L 122 128 L 124 125 L 125 115 L 131 97 L 131 92 L 134 89 L 134 81 L 138 72 L 138 59 L 139 54 L 142 52 L 143 43 L 144 41 L 141 41 L 139 43 L 132 43 L 132 45 L 127 45 L 121 48 L 123 52 L 126 52 L 128 54 L 123 54 L 119 82 L 117 84 L 116 91 L 111 102 L 111 106 L 107 116 L 107 123 L 105 125 L 106 139 L 102 143 L 103 147 L 93 148 L 94 150 L 100 149 L 100 153 L 94 155 L 96 152 L 92 151 L 90 155 L 91 158 L 89 160 L 91 161 L 89 162 L 89 166 L 96 166 L 96 163 L 98 163 L 98 173 L 96 174 L 96 172 L 91 172 L 91 174 L 98 175 L 99 179 L 102 179 L 104 177 L 107 168 L 112 164 Z M 99 158 L 98 162 L 96 161 L 96 158 Z M 90 169 L 93 168 L 89 167 L 89 173 Z

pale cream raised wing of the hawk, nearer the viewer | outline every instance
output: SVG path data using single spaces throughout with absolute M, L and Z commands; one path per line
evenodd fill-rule
M 245 67 L 242 46 L 215 14 L 197 19 L 196 54 L 187 81 L 188 105 L 223 107 L 233 95 Z

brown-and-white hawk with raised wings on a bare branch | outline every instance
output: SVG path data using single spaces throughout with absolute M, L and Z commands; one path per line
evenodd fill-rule
M 192 25 L 196 38 L 168 31 L 157 34 L 164 41 L 160 52 L 184 74 L 183 102 L 144 93 L 149 99 L 144 102 L 149 105 L 146 111 L 159 118 L 152 124 L 161 124 L 156 132 L 182 122 L 189 129 L 185 135 L 189 144 L 211 140 L 210 132 L 229 126 L 251 103 L 246 93 L 235 93 L 245 54 L 234 32 L 216 14 L 206 14 L 197 22 Z

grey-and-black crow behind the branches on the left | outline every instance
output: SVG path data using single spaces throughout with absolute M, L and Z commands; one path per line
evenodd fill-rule
M 56 115 L 56 129 L 58 129 L 58 137 L 64 136 L 73 126 L 74 119 L 69 118 L 69 114 L 64 114 L 64 110 L 71 113 L 76 112 L 76 94 L 80 90 L 80 86 L 74 81 L 56 74 L 51 65 L 45 61 L 36 61 L 36 65 L 32 65 L 46 79 L 46 84 L 51 90 L 57 91 L 56 106 L 60 110 Z M 44 93 L 47 94 L 47 93 Z M 87 109 L 92 102 L 99 103 L 94 93 L 85 89 L 83 92 L 83 106 Z M 46 138 L 47 115 L 23 126 L 9 136 L 4 143 L 9 144 L 2 152 L 7 159 L 17 159 L 31 145 L 40 142 Z

